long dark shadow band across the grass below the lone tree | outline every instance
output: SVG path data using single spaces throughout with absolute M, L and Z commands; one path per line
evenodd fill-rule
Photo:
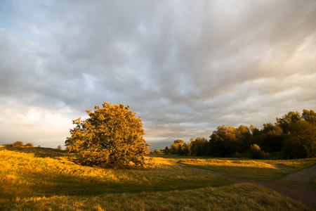
M 213 181 L 182 181 L 176 177 L 159 181 L 114 181 L 99 177 L 83 177 L 58 174 L 55 172 L 31 173 L 27 175 L 29 183 L 16 184 L 0 193 L 1 198 L 50 197 L 50 196 L 98 196 L 104 193 L 141 193 L 173 190 L 189 190 L 206 187 L 219 187 L 232 184 L 232 181 L 218 178 Z M 22 191 L 21 191 L 22 190 Z

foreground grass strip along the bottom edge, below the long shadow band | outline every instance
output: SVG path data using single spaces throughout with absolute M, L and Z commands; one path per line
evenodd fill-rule
M 311 210 L 254 184 L 86 197 L 15 198 L 11 203 L 11 208 L 17 210 Z

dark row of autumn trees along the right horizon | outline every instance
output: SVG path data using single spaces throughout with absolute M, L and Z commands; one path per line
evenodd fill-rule
M 197 137 L 189 143 L 177 139 L 164 153 L 212 157 L 315 158 L 316 113 L 313 110 L 290 111 L 277 122 L 250 127 L 217 127 L 210 139 Z

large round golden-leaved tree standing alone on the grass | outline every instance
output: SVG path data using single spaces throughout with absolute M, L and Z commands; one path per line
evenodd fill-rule
M 103 108 L 86 110 L 89 118 L 72 120 L 72 136 L 65 143 L 69 152 L 77 153 L 84 165 L 124 168 L 141 166 L 148 144 L 143 135 L 143 123 L 136 113 L 123 104 L 104 102 Z

